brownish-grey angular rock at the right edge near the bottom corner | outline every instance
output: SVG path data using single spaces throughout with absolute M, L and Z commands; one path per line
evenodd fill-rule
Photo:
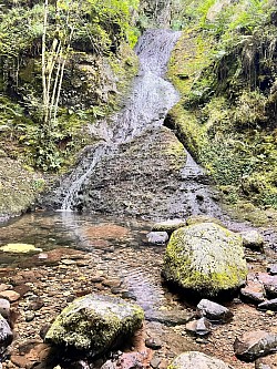
M 253 330 L 236 338 L 235 355 L 245 361 L 254 361 L 277 350 L 277 335 L 265 330 Z

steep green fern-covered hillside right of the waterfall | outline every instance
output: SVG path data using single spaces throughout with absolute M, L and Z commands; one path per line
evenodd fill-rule
M 206 0 L 175 7 L 172 24 L 183 35 L 168 75 L 182 101 L 166 124 L 177 129 L 228 202 L 277 208 L 276 3 Z

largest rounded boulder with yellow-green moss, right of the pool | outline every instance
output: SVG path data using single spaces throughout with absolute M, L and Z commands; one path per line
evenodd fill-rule
M 214 223 L 179 228 L 166 247 L 163 275 L 203 296 L 235 289 L 247 276 L 242 237 Z

